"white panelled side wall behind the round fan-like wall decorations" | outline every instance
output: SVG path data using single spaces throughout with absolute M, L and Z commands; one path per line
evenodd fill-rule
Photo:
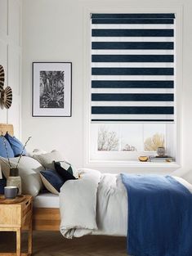
M 13 124 L 16 137 L 21 135 L 21 2 L 0 0 L 0 65 L 13 92 L 9 110 L 0 109 L 0 123 Z

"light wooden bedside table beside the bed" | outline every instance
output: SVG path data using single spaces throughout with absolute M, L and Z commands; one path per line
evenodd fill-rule
M 0 231 L 16 232 L 16 253 L 0 253 L 4 256 L 29 256 L 32 254 L 32 210 L 33 197 L 24 195 L 20 203 L 0 203 Z M 29 231 L 28 253 L 21 254 L 20 236 L 21 230 Z

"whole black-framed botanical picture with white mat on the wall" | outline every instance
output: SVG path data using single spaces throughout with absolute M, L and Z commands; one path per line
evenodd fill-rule
M 71 62 L 33 62 L 33 116 L 71 116 Z

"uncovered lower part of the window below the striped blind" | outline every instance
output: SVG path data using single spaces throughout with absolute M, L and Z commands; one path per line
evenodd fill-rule
M 165 146 L 174 152 L 174 124 L 91 124 L 90 159 L 136 160 Z

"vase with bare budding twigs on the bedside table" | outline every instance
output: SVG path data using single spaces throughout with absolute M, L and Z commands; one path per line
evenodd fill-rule
M 28 140 L 25 142 L 25 146 L 27 145 L 30 138 L 31 137 L 29 137 Z M 5 141 L 4 137 L 3 137 L 3 144 L 4 144 L 4 146 L 6 148 L 6 152 L 7 152 L 7 145 L 6 145 L 6 141 Z M 20 159 L 21 159 L 21 157 L 23 155 L 23 152 L 25 150 L 25 146 L 23 147 L 23 150 L 20 153 L 20 157 L 17 161 L 16 167 L 13 167 L 11 165 L 9 155 L 8 155 L 8 152 L 7 152 L 8 166 L 10 168 L 10 174 L 9 174 L 9 177 L 7 178 L 7 186 L 17 186 L 19 188 L 18 195 L 20 195 L 21 191 L 22 191 L 22 189 L 21 189 L 21 179 L 20 179 L 20 176 L 19 176 L 19 168 L 18 167 L 19 167 L 19 164 L 20 164 Z

